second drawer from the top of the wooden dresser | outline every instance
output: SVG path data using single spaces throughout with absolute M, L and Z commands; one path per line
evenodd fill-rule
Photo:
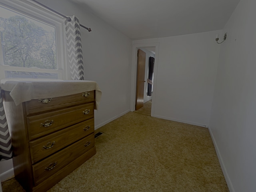
M 94 117 L 94 103 L 27 117 L 30 140 Z

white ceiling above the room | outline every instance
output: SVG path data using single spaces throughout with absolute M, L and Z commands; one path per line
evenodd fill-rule
M 223 29 L 240 0 L 70 0 L 132 40 Z

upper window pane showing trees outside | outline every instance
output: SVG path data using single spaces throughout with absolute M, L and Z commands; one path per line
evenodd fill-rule
M 0 7 L 4 65 L 58 69 L 55 28 Z

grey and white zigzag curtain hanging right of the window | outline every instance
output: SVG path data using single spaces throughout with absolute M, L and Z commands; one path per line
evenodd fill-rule
M 65 20 L 68 58 L 72 80 L 84 80 L 84 63 L 79 20 L 74 15 Z

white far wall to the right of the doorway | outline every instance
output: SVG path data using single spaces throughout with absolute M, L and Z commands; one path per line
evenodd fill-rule
M 152 116 L 208 127 L 220 50 L 215 35 L 221 32 L 133 41 L 159 42 Z

